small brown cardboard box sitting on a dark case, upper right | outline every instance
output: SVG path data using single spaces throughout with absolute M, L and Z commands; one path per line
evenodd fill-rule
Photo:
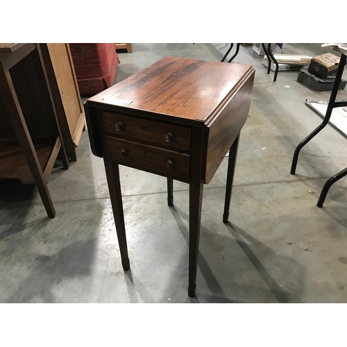
M 320 78 L 336 76 L 340 58 L 332 53 L 324 53 L 311 59 L 308 71 Z

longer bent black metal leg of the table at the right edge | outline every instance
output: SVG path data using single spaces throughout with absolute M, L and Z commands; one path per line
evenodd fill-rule
M 328 124 L 328 122 L 330 120 L 330 117 L 332 114 L 332 109 L 336 106 L 335 100 L 336 100 L 336 96 L 337 96 L 337 91 L 339 90 L 339 85 L 341 82 L 341 77 L 342 77 L 342 73 L 344 72 L 344 66 L 345 65 L 346 65 L 346 56 L 344 54 L 341 54 L 341 59 L 339 62 L 339 68 L 337 69 L 337 74 L 335 77 L 335 83 L 334 83 L 334 86 L 332 87 L 332 92 L 330 95 L 328 108 L 327 108 L 327 111 L 325 113 L 325 117 L 324 117 L 322 123 L 319 124 L 319 126 L 317 126 L 312 131 L 312 133 L 310 133 L 310 135 L 305 137 L 305 139 L 303 139 L 303 141 L 301 141 L 300 144 L 298 144 L 298 146 L 296 147 L 296 149 L 294 151 L 293 161 L 291 162 L 290 173 L 292 175 L 295 174 L 296 164 L 298 163 L 299 152 L 301 151 L 303 146 L 305 146 L 305 144 L 307 144 L 307 142 L 310 142 L 310 140 L 313 139 L 314 136 L 316 136 L 323 128 L 325 128 L 325 126 Z

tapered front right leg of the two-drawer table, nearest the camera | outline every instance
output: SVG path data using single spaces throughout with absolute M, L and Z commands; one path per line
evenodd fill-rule
M 203 183 L 189 184 L 189 287 L 188 296 L 194 298 L 196 270 L 198 268 L 198 242 L 200 237 Z

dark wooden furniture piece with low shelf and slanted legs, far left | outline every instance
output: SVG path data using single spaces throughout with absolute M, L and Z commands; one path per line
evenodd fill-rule
M 58 155 L 68 169 L 49 76 L 46 44 L 0 44 L 0 178 L 36 183 L 50 218 L 46 185 Z

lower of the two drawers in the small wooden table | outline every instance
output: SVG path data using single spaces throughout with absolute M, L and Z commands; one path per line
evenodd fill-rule
M 137 142 L 107 137 L 110 158 L 119 162 L 136 164 L 164 174 L 189 178 L 188 154 L 167 151 Z

